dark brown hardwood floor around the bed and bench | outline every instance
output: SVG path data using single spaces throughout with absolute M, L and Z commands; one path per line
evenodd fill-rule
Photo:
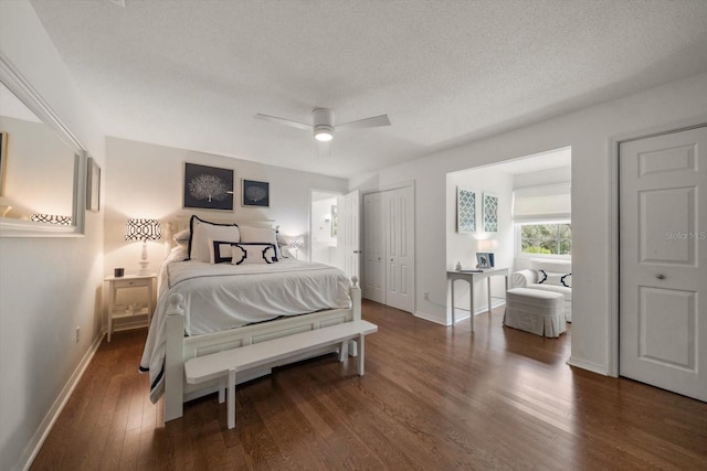
M 137 374 L 145 330 L 101 345 L 33 470 L 707 469 L 707 404 L 571 368 L 568 331 L 454 329 L 372 302 L 366 375 L 336 355 L 215 395 L 165 424 Z

